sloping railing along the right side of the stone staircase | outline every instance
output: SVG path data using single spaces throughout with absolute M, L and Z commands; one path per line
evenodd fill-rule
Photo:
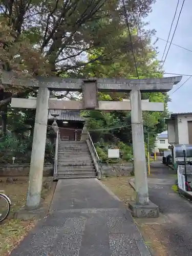
M 98 178 L 101 179 L 100 159 L 99 159 L 99 156 L 97 154 L 97 151 L 95 149 L 95 146 L 93 144 L 93 141 L 92 141 L 92 138 L 91 138 L 89 132 L 87 132 L 87 143 L 88 143 L 88 147 L 89 147 L 89 150 L 91 152 L 91 155 L 92 155 L 92 158 L 93 158 L 93 161 L 95 164 Z

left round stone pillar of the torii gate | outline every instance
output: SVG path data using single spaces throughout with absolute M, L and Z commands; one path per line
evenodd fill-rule
M 38 208 L 41 199 L 42 174 L 47 136 L 49 89 L 39 87 L 37 94 L 37 111 L 33 133 L 29 186 L 27 193 L 27 209 Z

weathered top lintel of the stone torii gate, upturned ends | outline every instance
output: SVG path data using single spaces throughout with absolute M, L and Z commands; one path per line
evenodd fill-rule
M 46 87 L 52 91 L 82 92 L 82 86 L 87 81 L 96 83 L 100 92 L 131 92 L 133 89 L 141 92 L 168 92 L 172 90 L 182 76 L 146 78 L 146 79 L 111 79 L 111 78 L 60 78 L 60 77 L 35 77 L 18 78 L 12 72 L 3 72 L 2 84 L 28 87 Z

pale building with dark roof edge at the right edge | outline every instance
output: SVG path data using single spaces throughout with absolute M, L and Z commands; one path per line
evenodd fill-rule
M 192 144 L 192 113 L 171 114 L 166 123 L 169 144 Z

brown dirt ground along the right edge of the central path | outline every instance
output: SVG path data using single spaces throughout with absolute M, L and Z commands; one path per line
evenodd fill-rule
M 130 186 L 129 180 L 133 177 L 112 177 L 102 179 L 102 183 L 108 186 L 113 193 L 127 205 L 129 201 L 135 199 L 135 190 Z M 145 244 L 150 249 L 154 256 L 168 256 L 166 247 L 162 244 L 161 238 L 158 238 L 157 230 L 161 223 L 162 218 L 156 220 L 157 223 L 153 224 L 143 222 L 140 219 L 135 219 L 135 222 L 143 236 Z

